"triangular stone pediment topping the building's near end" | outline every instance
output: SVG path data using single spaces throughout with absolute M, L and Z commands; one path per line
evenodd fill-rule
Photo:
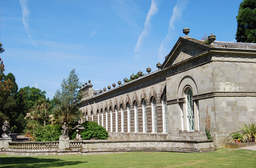
M 180 37 L 171 52 L 165 58 L 161 69 L 183 62 L 198 54 L 210 50 L 202 41 L 191 38 Z

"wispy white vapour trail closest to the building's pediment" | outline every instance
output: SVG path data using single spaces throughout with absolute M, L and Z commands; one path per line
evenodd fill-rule
M 182 17 L 182 12 L 186 9 L 188 1 L 178 1 L 177 4 L 173 8 L 173 14 L 171 16 L 169 22 L 168 33 L 165 39 L 162 41 L 161 45 L 159 46 L 159 53 L 158 53 L 158 61 L 163 62 L 165 55 L 167 54 L 165 51 L 165 43 L 171 39 L 171 35 L 173 34 L 173 30 L 175 29 L 174 22 L 180 20 Z

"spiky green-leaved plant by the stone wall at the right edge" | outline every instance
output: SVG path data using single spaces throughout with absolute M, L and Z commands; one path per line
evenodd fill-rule
M 255 142 L 256 125 L 254 123 L 248 125 L 244 124 L 239 132 L 242 132 L 243 140 L 245 142 Z

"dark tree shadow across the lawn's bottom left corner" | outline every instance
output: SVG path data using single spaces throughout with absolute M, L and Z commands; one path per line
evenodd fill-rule
M 81 161 L 65 161 L 61 159 L 50 158 L 34 158 L 34 157 L 3 157 L 1 158 L 1 168 L 48 168 L 48 167 L 62 167 L 81 164 L 86 162 Z

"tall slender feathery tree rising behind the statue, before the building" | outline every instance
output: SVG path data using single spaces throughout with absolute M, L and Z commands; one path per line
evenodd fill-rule
M 53 109 L 54 118 L 58 124 L 67 122 L 70 129 L 70 124 L 77 122 L 81 116 L 79 104 L 82 96 L 78 91 L 81 82 L 79 82 L 75 69 L 71 70 L 67 80 L 62 80 L 60 86 L 61 91 L 58 89 L 53 97 L 56 104 Z

